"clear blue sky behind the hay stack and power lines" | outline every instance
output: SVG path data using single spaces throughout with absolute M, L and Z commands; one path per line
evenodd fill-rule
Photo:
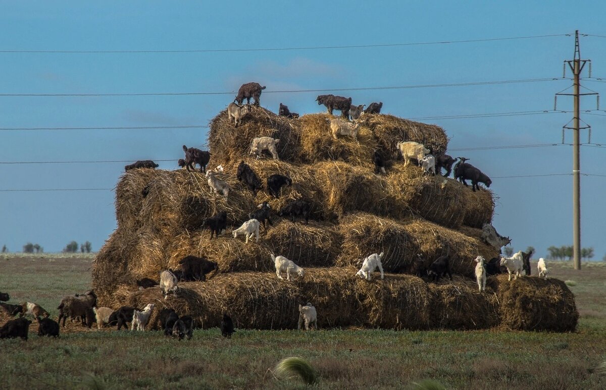
M 208 5 L 211 4 L 211 5 Z M 0 2 L 0 93 L 230 92 L 242 82 L 267 85 L 262 105 L 320 110 L 318 93 L 274 90 L 357 88 L 559 78 L 574 38 L 511 39 L 453 44 L 196 53 L 8 53 L 10 50 L 207 50 L 443 42 L 581 33 L 606 36 L 599 1 L 508 2 Z M 581 37 L 594 78 L 606 78 L 606 38 Z M 567 73 L 570 76 L 570 72 Z M 584 73 L 587 77 L 587 72 Z M 553 94 L 570 80 L 465 87 L 344 92 L 357 104 L 384 102 L 407 118 L 553 110 Z M 606 92 L 606 83 L 582 85 Z M 585 90 L 587 91 L 587 90 Z M 339 93 L 340 94 L 340 93 Z M 233 99 L 193 96 L 0 96 L 0 128 L 205 125 Z M 592 110 L 593 97 L 581 108 Z M 606 107 L 606 104 L 603 104 Z M 571 110 L 571 98 L 558 99 Z M 594 115 L 600 114 L 602 116 Z M 606 145 L 606 112 L 591 111 L 591 141 Z M 449 149 L 558 144 L 571 113 L 428 119 L 451 137 Z M 207 129 L 0 130 L 0 162 L 178 159 L 181 145 L 205 142 Z M 587 133 L 582 133 L 587 142 Z M 566 142 L 571 134 L 566 134 Z M 570 245 L 568 145 L 452 151 L 493 177 L 499 196 L 494 226 L 516 250 L 544 256 Z M 582 147 L 581 171 L 604 174 L 606 148 Z M 0 164 L 0 190 L 113 188 L 125 163 Z M 173 162 L 161 162 L 171 169 Z M 606 254 L 602 196 L 606 177 L 583 176 L 582 246 Z M 0 191 L 0 245 L 45 251 L 90 240 L 98 250 L 115 229 L 113 192 Z

